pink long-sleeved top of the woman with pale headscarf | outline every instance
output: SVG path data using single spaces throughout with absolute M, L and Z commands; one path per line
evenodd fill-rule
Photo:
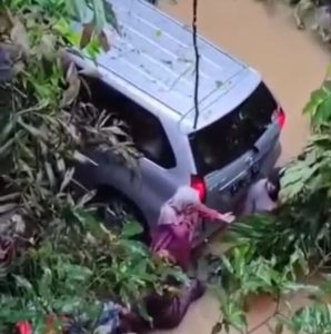
M 220 219 L 220 213 L 203 204 L 197 204 L 178 213 L 175 222 L 172 224 L 159 222 L 152 236 L 152 250 L 154 253 L 168 250 L 175 264 L 185 271 L 191 258 L 195 229 L 201 219 Z

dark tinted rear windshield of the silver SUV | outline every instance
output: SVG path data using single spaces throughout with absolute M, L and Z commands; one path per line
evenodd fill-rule
M 232 163 L 249 149 L 272 121 L 277 102 L 267 86 L 258 88 L 234 110 L 190 135 L 199 175 L 207 175 Z

